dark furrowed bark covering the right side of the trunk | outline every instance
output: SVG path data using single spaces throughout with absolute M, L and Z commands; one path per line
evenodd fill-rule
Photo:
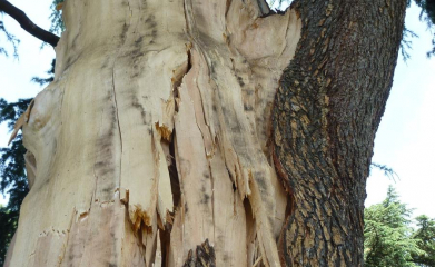
M 374 138 L 393 82 L 405 0 L 294 2 L 303 20 L 275 99 L 274 158 L 295 211 L 287 266 L 362 266 Z

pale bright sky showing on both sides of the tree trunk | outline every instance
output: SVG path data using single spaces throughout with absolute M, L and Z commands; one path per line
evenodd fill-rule
M 52 0 L 10 0 L 43 29 L 50 28 L 48 19 Z M 419 9 L 407 10 L 406 27 L 419 38 L 413 38 L 411 59 L 399 56 L 394 85 L 375 139 L 373 162 L 394 169 L 398 178 L 392 180 L 374 168 L 367 180 L 366 207 L 383 201 L 388 185 L 393 185 L 401 200 L 415 208 L 414 217 L 425 214 L 435 218 L 435 57 L 428 59 L 432 49 L 427 27 L 418 19 Z M 41 41 L 23 31 L 8 16 L 3 17 L 10 33 L 21 40 L 19 59 L 0 56 L 0 98 L 14 101 L 34 97 L 42 88 L 30 82 L 31 78 L 47 77 L 55 51 L 50 46 L 41 48 Z M 12 48 L 0 33 L 0 46 L 12 55 Z M 0 147 L 6 147 L 9 132 L 0 125 Z M 0 204 L 7 199 L 0 196 Z

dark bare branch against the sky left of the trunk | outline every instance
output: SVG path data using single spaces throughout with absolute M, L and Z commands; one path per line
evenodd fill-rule
M 58 44 L 58 36 L 55 36 L 53 33 L 36 26 L 22 10 L 16 8 L 10 2 L 6 0 L 0 0 L 0 11 L 4 11 L 4 13 L 16 19 L 18 23 L 20 23 L 22 29 L 24 29 L 27 32 L 34 36 L 39 40 L 48 42 L 52 47 L 56 47 L 56 44 Z

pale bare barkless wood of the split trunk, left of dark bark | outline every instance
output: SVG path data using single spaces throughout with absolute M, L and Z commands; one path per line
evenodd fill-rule
M 206 239 L 216 266 L 279 266 L 268 139 L 298 16 L 260 18 L 254 0 L 62 9 L 55 81 L 23 123 L 33 182 L 10 266 L 182 266 Z

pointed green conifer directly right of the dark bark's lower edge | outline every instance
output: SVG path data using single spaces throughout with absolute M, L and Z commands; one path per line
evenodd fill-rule
M 367 267 L 416 266 L 412 255 L 422 255 L 419 239 L 412 236 L 412 210 L 388 188 L 387 198 L 365 210 L 364 259 Z

